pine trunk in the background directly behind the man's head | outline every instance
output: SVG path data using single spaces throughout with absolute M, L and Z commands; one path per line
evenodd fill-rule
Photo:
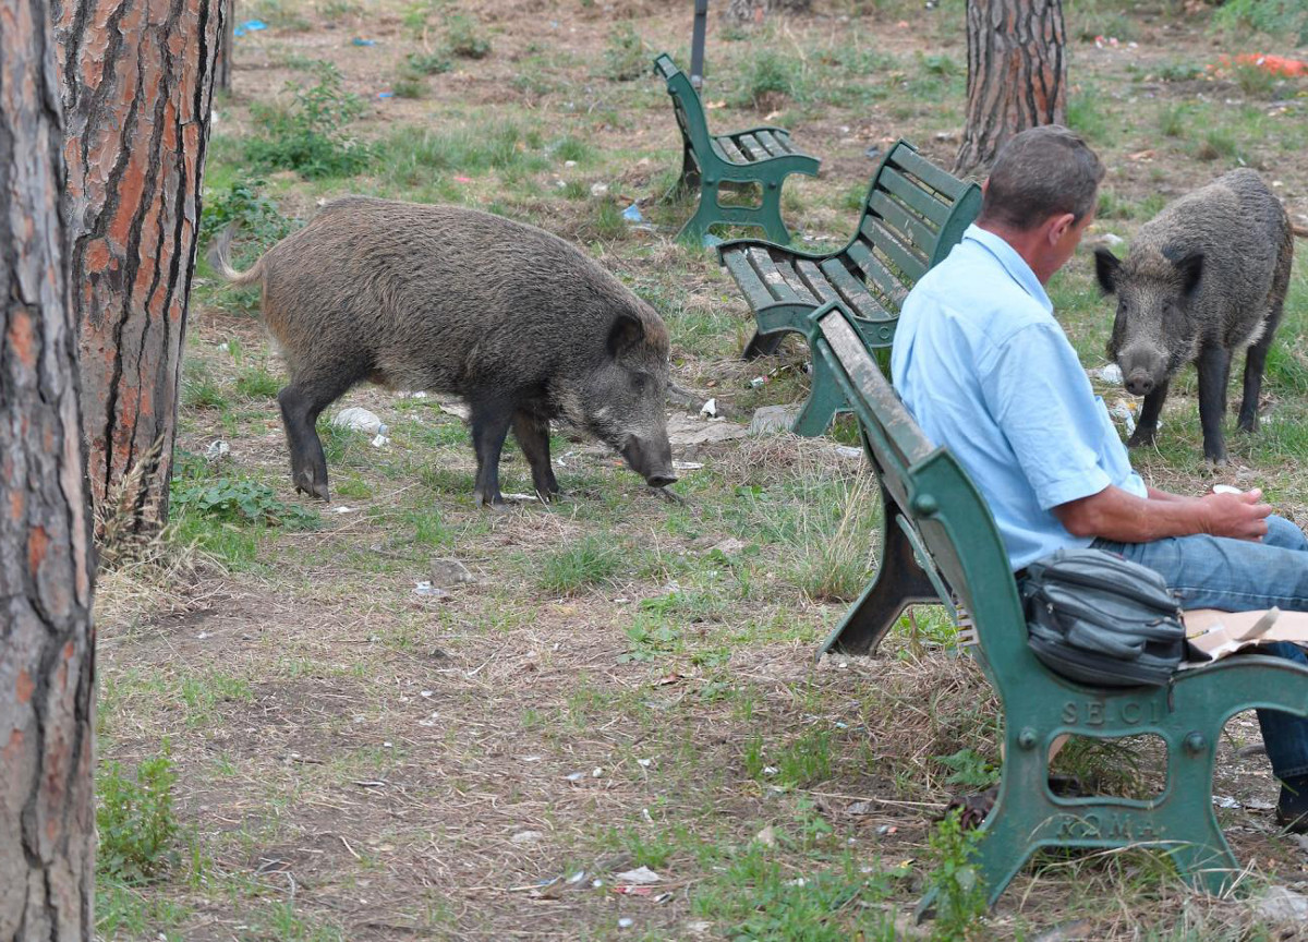
M 1062 0 L 968 0 L 968 116 L 954 173 L 984 171 L 1012 135 L 1067 122 Z

